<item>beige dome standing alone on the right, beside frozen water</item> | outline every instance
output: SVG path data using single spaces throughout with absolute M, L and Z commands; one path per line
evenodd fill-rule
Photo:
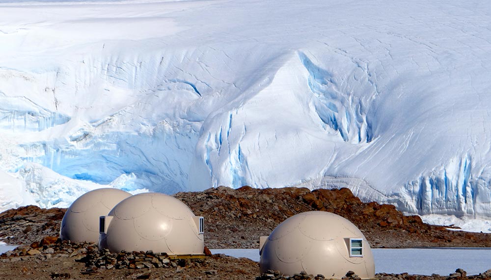
M 375 278 L 370 245 L 363 233 L 345 218 L 310 211 L 286 219 L 268 237 L 261 237 L 259 267 L 293 276 L 300 271 L 341 279 L 354 271 L 362 279 Z

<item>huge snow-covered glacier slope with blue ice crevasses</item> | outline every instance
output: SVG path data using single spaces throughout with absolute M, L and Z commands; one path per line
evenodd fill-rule
M 3 2 L 0 208 L 66 204 L 74 185 L 248 184 L 348 186 L 410 213 L 491 217 L 490 11 Z M 52 171 L 70 183 L 41 190 Z

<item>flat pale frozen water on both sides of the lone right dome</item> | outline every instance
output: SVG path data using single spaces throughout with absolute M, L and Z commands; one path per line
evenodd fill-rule
M 259 261 L 257 249 L 213 249 L 213 254 L 246 257 Z M 476 275 L 491 268 L 489 248 L 372 249 L 376 273 L 449 275 L 457 268 Z

